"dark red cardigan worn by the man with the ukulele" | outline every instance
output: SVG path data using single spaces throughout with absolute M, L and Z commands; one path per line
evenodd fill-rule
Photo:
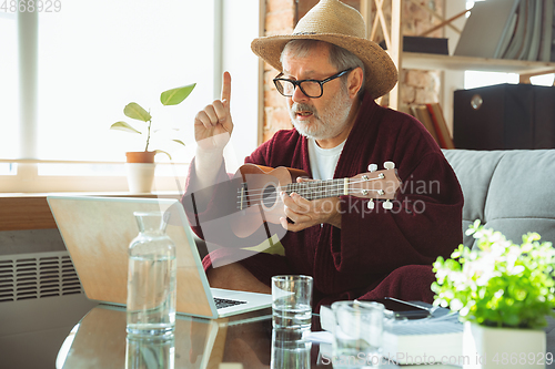
M 431 264 L 440 255 L 448 257 L 462 243 L 463 194 L 442 151 L 414 117 L 379 106 L 366 96 L 334 177 L 351 177 L 367 172 L 371 163 L 382 168 L 385 161 L 395 163 L 403 182 L 403 191 L 397 194 L 392 211 L 383 211 L 376 203 L 375 209 L 370 212 L 366 199 L 342 196 L 341 229 L 325 224 L 297 233 L 287 232 L 281 239 L 285 248 L 282 262 L 289 267 L 289 273 L 314 277 L 315 301 L 381 297 L 376 296 L 376 289 L 380 291 L 377 295 L 430 301 Z M 311 173 L 307 141 L 295 130 L 278 132 L 245 162 Z M 194 165 L 191 167 L 189 192 L 194 183 Z M 220 181 L 224 178 L 229 177 L 222 166 Z M 224 192 L 219 191 L 220 194 Z M 215 203 L 221 204 L 222 201 L 220 198 Z M 206 206 L 208 213 L 215 209 L 216 206 Z M 202 235 L 199 228 L 196 232 Z M 212 260 L 216 257 L 212 255 Z M 272 265 L 280 264 L 276 257 L 269 262 L 271 265 L 262 267 L 260 263 L 264 263 L 264 257 L 244 265 L 251 265 L 253 274 L 269 283 L 273 271 L 283 271 L 272 270 Z M 209 265 L 210 260 L 205 266 Z M 380 285 L 395 269 L 411 265 L 426 267 L 402 268 L 402 276 L 386 279 L 385 286 Z M 414 280 L 422 273 L 422 280 Z M 406 296 L 414 288 L 424 290 Z

